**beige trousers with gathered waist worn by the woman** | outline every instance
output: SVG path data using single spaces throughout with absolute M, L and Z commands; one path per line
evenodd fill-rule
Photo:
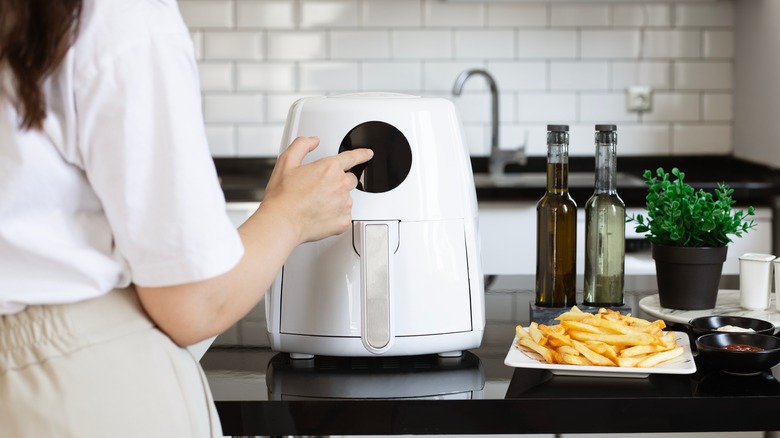
M 0 437 L 214 436 L 200 365 L 134 289 L 0 316 Z

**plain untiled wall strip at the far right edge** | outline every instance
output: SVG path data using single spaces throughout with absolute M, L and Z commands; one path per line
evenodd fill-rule
M 740 1 L 734 155 L 780 168 L 780 2 Z

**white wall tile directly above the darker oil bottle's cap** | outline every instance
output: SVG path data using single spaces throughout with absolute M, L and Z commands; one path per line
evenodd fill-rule
M 517 121 L 522 123 L 571 123 L 577 120 L 574 93 L 520 93 Z

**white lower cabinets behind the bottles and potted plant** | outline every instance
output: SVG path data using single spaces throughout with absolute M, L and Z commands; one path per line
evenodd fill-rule
M 642 212 L 629 208 L 627 214 Z M 746 252 L 771 254 L 772 211 L 757 208 L 752 218 L 756 229 L 729 245 L 723 274 L 739 274 L 739 256 Z M 536 273 L 536 202 L 480 202 L 479 233 L 482 269 L 486 275 Z M 627 238 L 642 238 L 632 223 L 626 224 Z M 585 214 L 577 212 L 577 273 L 585 269 Z M 626 254 L 626 274 L 655 274 L 650 250 Z

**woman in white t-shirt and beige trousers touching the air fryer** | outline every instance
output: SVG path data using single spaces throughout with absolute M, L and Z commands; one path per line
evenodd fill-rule
M 220 436 L 183 347 L 351 220 L 371 158 L 276 164 L 237 231 L 175 0 L 0 2 L 0 436 Z

